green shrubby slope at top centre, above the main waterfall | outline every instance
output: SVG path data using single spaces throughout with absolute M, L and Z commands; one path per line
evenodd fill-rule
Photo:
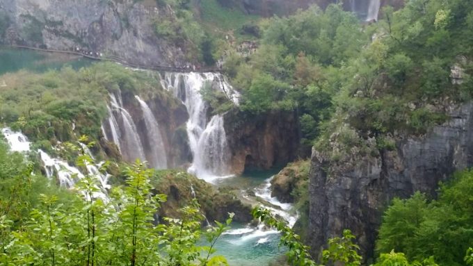
M 234 38 L 238 42 L 251 39 L 244 29 L 259 20 L 256 15 L 246 15 L 217 0 L 158 0 L 157 4 L 170 12 L 152 22 L 154 33 L 182 47 L 189 62 L 210 66 L 228 46 L 236 47 Z

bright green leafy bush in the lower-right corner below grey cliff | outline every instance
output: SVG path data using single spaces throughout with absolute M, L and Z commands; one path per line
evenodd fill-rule
M 433 256 L 440 265 L 464 265 L 473 247 L 473 170 L 441 186 L 437 200 L 417 192 L 394 199 L 379 229 L 378 252 L 403 252 L 411 260 Z

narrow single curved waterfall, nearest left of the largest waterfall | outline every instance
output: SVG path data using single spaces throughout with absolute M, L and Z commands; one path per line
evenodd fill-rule
M 161 137 L 161 132 L 159 131 L 159 125 L 154 115 L 147 106 L 146 102 L 143 101 L 140 97 L 135 96 L 136 100 L 140 103 L 141 110 L 143 111 L 143 118 L 145 119 L 146 125 L 146 134 L 148 145 L 150 146 L 150 164 L 152 167 L 157 169 L 166 169 L 168 166 L 166 159 L 166 149 L 164 148 L 163 138 Z

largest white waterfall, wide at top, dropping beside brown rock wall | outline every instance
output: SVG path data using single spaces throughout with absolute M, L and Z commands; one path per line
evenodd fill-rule
M 223 117 L 214 115 L 207 124 L 207 104 L 200 90 L 205 85 L 211 85 L 235 103 L 238 103 L 238 95 L 220 74 L 214 73 L 166 73 L 161 84 L 184 103 L 189 113 L 186 126 L 193 154 L 189 172 L 210 183 L 231 176 L 227 169 L 229 152 Z

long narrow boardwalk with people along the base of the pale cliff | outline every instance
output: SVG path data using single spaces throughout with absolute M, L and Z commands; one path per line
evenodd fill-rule
M 65 51 L 65 50 L 54 50 L 54 49 L 42 49 L 37 47 L 28 47 L 24 45 L 10 45 L 7 47 L 19 48 L 19 49 L 29 49 L 35 51 L 44 51 L 48 53 L 64 53 L 70 54 L 74 56 L 83 56 L 85 58 L 90 58 L 93 60 L 102 60 L 102 61 L 111 61 L 115 63 L 120 63 L 127 67 L 138 68 L 138 69 L 149 69 L 154 71 L 161 71 L 161 72 L 220 72 L 221 69 L 218 67 L 171 67 L 166 65 L 142 65 L 137 63 L 131 63 L 124 58 L 120 58 L 119 56 L 113 55 L 104 55 L 104 56 L 94 56 L 94 53 L 89 52 L 81 52 L 81 51 Z M 95 53 L 97 54 L 97 53 Z

